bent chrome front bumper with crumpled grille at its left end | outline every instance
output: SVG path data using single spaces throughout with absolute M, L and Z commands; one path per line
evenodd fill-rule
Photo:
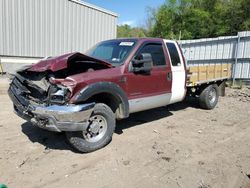
M 8 90 L 14 103 L 14 111 L 19 117 L 40 128 L 55 132 L 87 130 L 88 119 L 93 112 L 95 103 L 64 106 L 31 104 L 22 95 L 27 88 L 20 84 L 15 78 Z

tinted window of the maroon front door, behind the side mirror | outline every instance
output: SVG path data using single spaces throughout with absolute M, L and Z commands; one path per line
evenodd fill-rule
M 161 44 L 146 44 L 140 51 L 141 53 L 149 53 L 152 56 L 154 66 L 166 65 L 165 55 Z

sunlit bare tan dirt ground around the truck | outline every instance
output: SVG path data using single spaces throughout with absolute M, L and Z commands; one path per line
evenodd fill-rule
M 250 89 L 227 89 L 212 111 L 193 101 L 118 122 L 91 154 L 31 126 L 0 95 L 0 183 L 8 187 L 250 187 Z

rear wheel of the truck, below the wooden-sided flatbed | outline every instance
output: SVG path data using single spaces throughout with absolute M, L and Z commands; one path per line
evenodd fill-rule
M 219 99 L 219 88 L 216 84 L 207 86 L 200 94 L 200 107 L 206 110 L 215 108 Z

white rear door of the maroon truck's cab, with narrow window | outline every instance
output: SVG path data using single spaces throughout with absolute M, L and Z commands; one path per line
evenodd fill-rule
M 172 69 L 172 96 L 170 103 L 182 101 L 186 95 L 186 71 L 182 53 L 175 41 L 164 40 Z

